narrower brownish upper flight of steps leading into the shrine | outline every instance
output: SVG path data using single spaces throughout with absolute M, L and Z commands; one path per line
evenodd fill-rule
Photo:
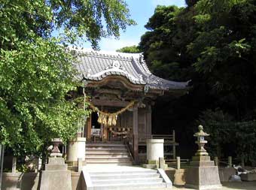
M 127 146 L 122 142 L 92 142 L 86 145 L 87 164 L 133 165 Z

